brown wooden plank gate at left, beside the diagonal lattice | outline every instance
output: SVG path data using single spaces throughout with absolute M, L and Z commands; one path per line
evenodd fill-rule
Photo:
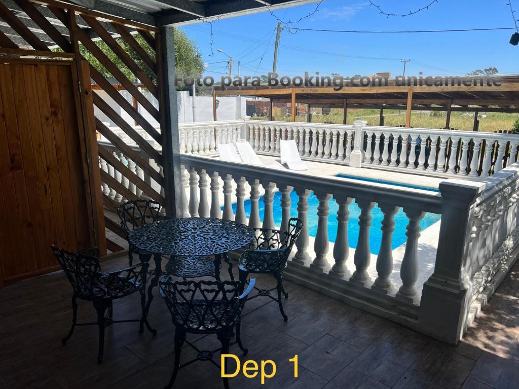
M 76 62 L 1 62 L 0 287 L 57 269 L 51 244 L 104 242 L 91 190 L 101 182 L 87 162 L 97 166 L 95 129 L 85 124 L 93 113 L 82 110 Z

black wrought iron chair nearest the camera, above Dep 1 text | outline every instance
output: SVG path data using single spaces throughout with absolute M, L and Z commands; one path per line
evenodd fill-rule
M 240 321 L 247 296 L 254 287 L 255 279 L 251 278 L 249 287 L 244 292 L 239 281 L 176 281 L 165 277 L 160 281 L 160 294 L 164 298 L 173 324 L 175 325 L 175 365 L 171 379 L 166 388 L 171 388 L 179 369 L 197 360 L 209 360 L 218 369 L 220 366 L 213 361 L 213 354 L 220 351 L 229 353 L 230 338 L 236 329 L 236 343 L 243 355 L 247 355 L 240 338 Z M 240 294 L 241 293 L 241 294 Z M 186 340 L 186 333 L 216 334 L 222 347 L 212 351 L 199 350 Z M 180 365 L 182 345 L 186 342 L 198 353 L 197 357 Z M 224 371 L 227 363 L 224 364 Z M 223 378 L 224 387 L 229 387 L 228 378 Z

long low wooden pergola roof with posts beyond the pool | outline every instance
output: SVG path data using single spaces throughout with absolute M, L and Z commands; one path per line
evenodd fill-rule
M 342 90 L 334 90 L 333 87 L 265 86 L 227 87 L 220 90 L 215 87 L 213 99 L 216 101 L 217 96 L 234 95 L 266 98 L 270 100 L 270 116 L 272 102 L 289 102 L 292 105 L 293 122 L 296 103 L 312 107 L 342 108 L 344 124 L 347 109 L 350 108 L 379 109 L 380 121 L 384 110 L 406 110 L 406 127 L 411 126 L 413 110 L 446 111 L 445 128 L 450 127 L 451 112 L 474 112 L 474 130 L 477 131 L 479 112 L 519 112 L 519 76 L 500 76 L 499 79 L 501 86 L 395 86 L 394 80 L 390 80 L 387 86 L 350 87 L 346 84 Z

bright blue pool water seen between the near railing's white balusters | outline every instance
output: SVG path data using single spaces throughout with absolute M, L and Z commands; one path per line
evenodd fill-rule
M 292 206 L 290 208 L 290 216 L 297 217 L 297 202 L 298 196 L 295 191 L 292 191 L 290 194 L 292 199 Z M 316 236 L 317 234 L 317 206 L 319 205 L 319 200 L 312 193 L 308 196 L 308 232 L 310 236 Z M 335 238 L 337 237 L 337 210 L 338 205 L 334 198 L 330 199 L 328 206 L 330 207 L 330 216 L 328 218 L 328 237 L 330 242 L 335 242 Z M 223 208 L 223 207 L 222 207 Z M 265 204 L 263 203 L 263 196 L 260 197 L 259 200 L 259 208 L 260 208 L 260 219 L 263 221 L 263 214 L 265 210 Z M 236 213 L 236 204 L 233 204 L 233 211 Z M 357 247 L 357 239 L 359 238 L 359 215 L 360 208 L 353 201 L 349 206 L 349 221 L 348 221 L 348 244 L 351 248 Z M 251 214 L 251 200 L 245 200 L 245 213 L 247 214 L 247 218 L 249 218 Z M 382 223 L 382 219 L 384 218 L 384 214 L 380 211 L 380 208 L 375 206 L 371 211 L 371 216 L 373 218 L 372 225 L 370 227 L 370 248 L 373 254 L 378 254 L 378 250 L 380 248 L 380 241 L 382 239 L 382 231 L 380 230 L 380 226 Z M 438 220 L 440 220 L 441 215 L 435 213 L 426 213 L 424 219 L 420 221 L 420 227 L 425 230 L 430 225 L 434 224 Z M 392 248 L 395 249 L 406 242 L 407 238 L 405 236 L 406 226 L 408 224 L 408 219 L 405 216 L 405 213 L 402 209 L 398 211 L 394 216 L 395 221 L 395 231 L 393 233 L 393 244 Z M 281 225 L 281 193 L 277 192 L 274 194 L 274 222 L 276 225 Z

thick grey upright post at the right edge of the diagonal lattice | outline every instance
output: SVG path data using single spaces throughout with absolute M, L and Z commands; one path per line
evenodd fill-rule
M 167 216 L 182 217 L 180 174 L 179 115 L 177 113 L 175 78 L 175 47 L 172 27 L 160 28 L 157 58 L 162 61 L 158 77 L 162 86 L 162 166 L 164 168 Z

